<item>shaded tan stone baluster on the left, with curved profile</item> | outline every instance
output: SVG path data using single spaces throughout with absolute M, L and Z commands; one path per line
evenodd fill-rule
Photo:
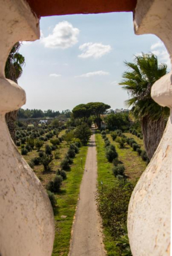
M 23 0 L 0 0 L 0 6 L 0 255 L 50 256 L 54 218 L 49 198 L 5 123 L 5 113 L 26 102 L 24 90 L 5 79 L 5 62 L 16 42 L 39 39 L 39 20 Z

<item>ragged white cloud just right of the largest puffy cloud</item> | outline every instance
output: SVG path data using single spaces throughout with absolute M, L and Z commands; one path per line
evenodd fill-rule
M 103 45 L 102 43 L 84 43 L 79 46 L 79 50 L 82 51 L 79 58 L 101 58 L 106 53 L 109 53 L 112 48 L 110 45 Z

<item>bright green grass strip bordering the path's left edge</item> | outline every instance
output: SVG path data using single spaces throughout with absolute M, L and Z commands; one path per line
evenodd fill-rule
M 88 147 L 81 147 L 74 158 L 71 171 L 67 172 L 68 178 L 63 181 L 62 189 L 56 194 L 58 209 L 55 210 L 55 242 L 52 256 L 67 256 L 71 239 L 71 228 L 74 220 L 75 208 L 77 206 L 79 187 L 84 172 L 85 159 Z M 81 157 L 83 169 L 81 170 Z M 62 215 L 67 216 L 62 219 Z

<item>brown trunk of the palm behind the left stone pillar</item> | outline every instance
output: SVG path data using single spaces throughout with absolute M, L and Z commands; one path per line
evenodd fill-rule
M 17 118 L 17 112 L 18 112 L 18 110 L 15 110 L 15 111 L 9 112 L 5 115 L 5 120 L 7 122 L 9 133 L 10 133 L 11 138 L 14 141 L 14 143 L 16 143 L 15 121 L 16 121 L 16 118 Z

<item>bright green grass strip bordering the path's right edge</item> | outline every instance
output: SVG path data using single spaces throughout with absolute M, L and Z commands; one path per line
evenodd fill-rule
M 113 164 L 107 161 L 105 156 L 104 140 L 101 138 L 100 132 L 95 135 L 95 141 L 97 146 L 97 166 L 98 166 L 98 189 L 101 191 L 101 181 L 103 182 L 103 187 L 113 187 L 114 176 L 112 173 Z M 104 246 L 107 251 L 107 256 L 116 256 L 117 249 L 114 242 L 113 236 L 110 234 L 108 227 L 103 228 L 104 233 Z

